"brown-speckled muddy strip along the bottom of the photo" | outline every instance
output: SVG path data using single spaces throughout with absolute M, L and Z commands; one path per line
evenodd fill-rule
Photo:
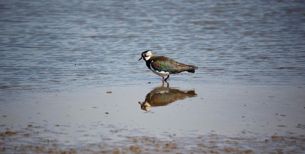
M 32 126 L 29 126 L 32 127 Z M 226 137 L 217 134 L 198 137 L 125 137 L 120 141 L 101 138 L 103 142 L 79 146 L 68 146 L 27 132 L 1 133 L 0 152 L 7 153 L 48 153 L 48 154 L 302 154 L 305 151 L 305 136 L 271 136 L 267 139 L 251 137 Z M 25 141 L 29 140 L 29 141 Z M 31 143 L 36 140 L 38 144 Z M 20 141 L 23 143 L 20 144 Z M 108 144 L 106 142 L 111 142 Z M 17 142 L 17 144 L 12 144 Z

